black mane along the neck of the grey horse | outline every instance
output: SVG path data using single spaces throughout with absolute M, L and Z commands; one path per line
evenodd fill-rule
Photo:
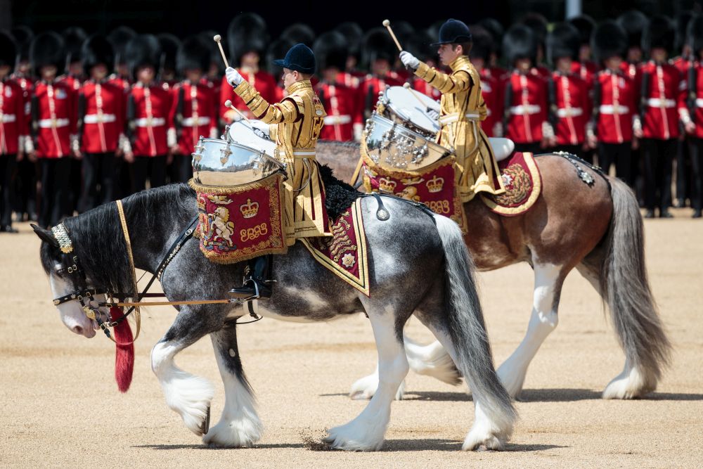
M 195 193 L 186 184 L 172 184 L 125 198 L 124 215 L 130 238 L 134 240 L 141 233 L 162 231 L 169 223 L 185 226 L 195 210 L 194 197 Z M 117 203 L 100 205 L 77 217 L 65 219 L 63 224 L 91 283 L 112 292 L 131 292 L 127 244 Z

